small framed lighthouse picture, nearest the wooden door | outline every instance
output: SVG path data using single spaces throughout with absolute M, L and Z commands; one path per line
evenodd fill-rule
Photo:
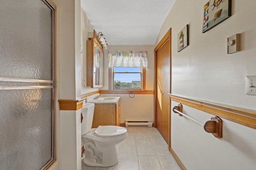
M 188 47 L 188 25 L 178 33 L 178 52 Z

